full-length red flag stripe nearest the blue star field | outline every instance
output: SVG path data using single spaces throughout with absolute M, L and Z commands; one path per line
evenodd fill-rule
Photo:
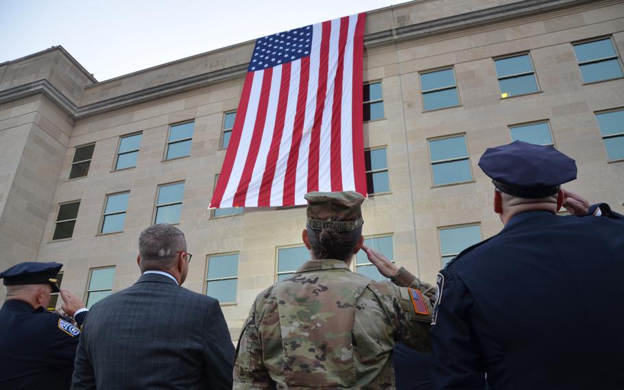
M 319 152 L 321 142 L 321 125 L 323 124 L 323 108 L 327 92 L 327 74 L 329 61 L 329 38 L 331 21 L 323 22 L 320 45 L 320 62 L 318 71 L 318 88 L 316 95 L 316 110 L 312 124 L 310 150 L 308 154 L 308 192 L 318 191 Z

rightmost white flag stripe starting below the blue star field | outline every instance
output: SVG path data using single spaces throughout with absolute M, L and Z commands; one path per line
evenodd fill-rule
M 295 113 L 297 111 L 300 70 L 301 60 L 291 62 L 286 119 L 284 131 L 282 132 L 282 140 L 280 142 L 280 152 L 275 165 L 275 176 L 273 177 L 273 183 L 271 185 L 271 206 L 274 207 L 283 205 L 284 200 L 284 177 L 286 176 L 288 154 L 293 141 L 293 126 L 295 124 Z

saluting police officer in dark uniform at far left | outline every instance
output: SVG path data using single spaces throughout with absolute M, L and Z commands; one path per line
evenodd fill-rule
M 51 292 L 59 292 L 56 275 L 62 266 L 23 262 L 0 273 L 6 290 L 0 309 L 0 389 L 69 389 L 80 330 L 44 309 Z M 64 304 L 82 325 L 84 305 L 66 290 L 61 293 L 83 307 L 76 314 Z

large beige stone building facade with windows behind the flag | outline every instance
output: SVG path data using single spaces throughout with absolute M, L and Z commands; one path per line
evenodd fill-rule
M 512 139 L 553 144 L 579 167 L 567 188 L 624 211 L 623 1 L 416 0 L 368 12 L 364 39 L 364 234 L 397 264 L 434 282 L 501 230 L 477 161 Z M 0 64 L 0 268 L 62 262 L 92 304 L 139 277 L 145 227 L 179 221 L 185 286 L 236 339 L 307 256 L 302 207 L 206 209 L 253 45 L 104 82 L 62 47 Z

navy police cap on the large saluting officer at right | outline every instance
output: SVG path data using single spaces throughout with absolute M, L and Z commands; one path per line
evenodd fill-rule
M 514 141 L 488 148 L 479 167 L 505 194 L 518 198 L 544 198 L 556 194 L 559 185 L 576 179 L 573 159 L 553 146 Z

